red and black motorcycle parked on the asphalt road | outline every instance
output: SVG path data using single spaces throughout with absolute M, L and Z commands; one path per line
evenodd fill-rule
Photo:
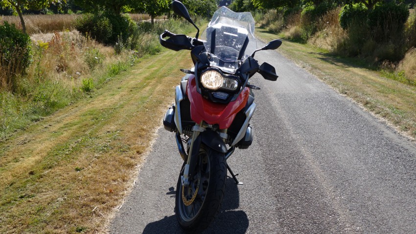
M 235 148 L 247 149 L 253 142 L 250 119 L 256 104 L 252 90 L 260 88 L 251 85 L 249 78 L 256 72 L 270 81 L 278 77 L 272 65 L 259 66 L 254 54 L 277 49 L 282 42 L 274 40 L 257 49 L 252 14 L 224 6 L 214 13 L 201 40 L 185 5 L 174 0 L 172 9 L 194 25 L 197 33 L 195 38 L 168 30 L 160 35 L 163 47 L 190 50 L 194 64 L 191 70 L 181 69 L 185 76 L 176 87 L 175 104 L 167 110 L 163 125 L 176 133 L 184 160 L 176 187 L 176 217 L 184 230 L 201 232 L 220 209 L 227 170 L 236 184 L 242 184 L 227 159 Z

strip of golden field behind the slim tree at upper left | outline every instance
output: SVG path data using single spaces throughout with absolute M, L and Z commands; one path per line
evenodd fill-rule
M 26 24 L 27 34 L 47 33 L 54 31 L 63 31 L 66 29 L 72 30 L 73 22 L 77 15 L 25 15 L 23 16 L 24 23 Z M 2 16 L 0 23 L 7 21 L 14 23 L 17 27 L 22 28 L 20 19 L 18 16 Z

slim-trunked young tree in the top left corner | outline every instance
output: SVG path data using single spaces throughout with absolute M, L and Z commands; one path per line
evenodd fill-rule
M 65 2 L 65 0 L 63 0 Z M 22 23 L 23 33 L 26 34 L 26 25 L 23 20 L 23 9 L 42 9 L 49 7 L 50 4 L 60 4 L 61 0 L 0 0 L 2 8 L 10 7 L 17 13 Z

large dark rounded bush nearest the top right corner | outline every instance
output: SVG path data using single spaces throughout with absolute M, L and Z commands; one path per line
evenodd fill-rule
M 368 16 L 373 39 L 377 42 L 400 43 L 408 17 L 407 5 L 397 5 L 394 2 L 377 4 Z

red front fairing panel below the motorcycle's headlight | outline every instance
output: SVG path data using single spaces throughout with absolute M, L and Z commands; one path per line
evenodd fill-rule
M 250 92 L 248 88 L 244 88 L 237 100 L 228 104 L 215 103 L 196 91 L 195 76 L 191 75 L 188 79 L 186 94 L 191 103 L 193 121 L 200 123 L 204 120 L 208 124 L 218 124 L 220 129 L 226 129 L 231 126 L 235 115 L 246 106 Z

